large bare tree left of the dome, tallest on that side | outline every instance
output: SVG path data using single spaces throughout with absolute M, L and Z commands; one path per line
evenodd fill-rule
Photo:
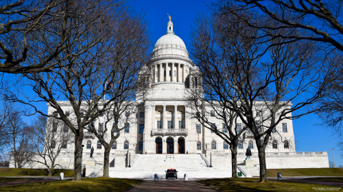
M 139 69 L 148 57 L 150 40 L 146 23 L 139 15 L 134 16 L 121 1 L 78 1 L 75 12 L 90 7 L 82 17 L 71 18 L 69 33 L 82 33 L 82 40 L 61 52 L 58 68 L 51 72 L 31 73 L 28 86 L 38 98 L 14 94 L 8 87 L 6 98 L 31 106 L 37 113 L 48 118 L 62 120 L 74 135 L 74 180 L 81 180 L 81 149 L 84 128 L 94 122 L 104 111 L 111 109 L 113 100 L 121 96 L 106 83 L 135 87 Z M 94 25 L 79 25 L 94 21 Z M 86 28 L 84 28 L 86 27 Z M 130 79 L 131 78 L 131 79 Z M 104 99 L 106 94 L 113 96 Z M 34 102 L 43 100 L 56 109 L 45 114 Z M 67 100 L 67 101 L 60 101 Z M 73 109 L 69 115 L 62 105 Z

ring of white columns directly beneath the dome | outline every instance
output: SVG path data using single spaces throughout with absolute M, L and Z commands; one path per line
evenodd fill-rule
M 154 64 L 154 83 L 184 83 L 189 73 L 189 66 L 180 63 Z

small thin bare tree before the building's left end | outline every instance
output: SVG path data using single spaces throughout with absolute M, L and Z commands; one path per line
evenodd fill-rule
M 62 120 L 39 115 L 32 123 L 32 163 L 47 167 L 47 175 L 52 176 L 56 167 L 64 168 L 58 163 L 58 156 L 68 150 L 73 143 L 73 135 Z

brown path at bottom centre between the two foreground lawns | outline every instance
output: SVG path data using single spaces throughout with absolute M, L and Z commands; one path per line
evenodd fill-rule
M 137 184 L 132 189 L 128 190 L 130 192 L 135 191 L 209 191 L 213 192 L 215 190 L 211 189 L 210 187 L 205 186 L 204 184 L 200 184 L 200 182 L 196 182 L 194 180 L 159 180 L 159 181 L 152 181 L 147 180 L 145 182 L 141 182 Z

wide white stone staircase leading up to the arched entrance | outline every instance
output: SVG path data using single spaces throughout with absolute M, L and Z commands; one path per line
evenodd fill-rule
M 178 178 L 226 178 L 231 176 L 228 167 L 207 167 L 200 154 L 141 154 L 131 167 L 110 167 L 113 178 L 165 178 L 165 171 L 174 168 Z

